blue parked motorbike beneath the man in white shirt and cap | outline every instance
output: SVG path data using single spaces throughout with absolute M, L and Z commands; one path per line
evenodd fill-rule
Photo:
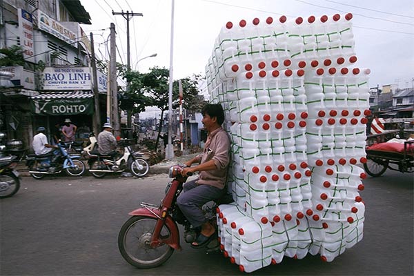
M 85 172 L 85 164 L 79 160 L 81 155 L 70 155 L 63 141 L 57 150 L 46 155 L 26 155 L 26 166 L 34 179 L 42 179 L 46 175 L 57 175 L 62 170 L 72 177 L 79 177 Z

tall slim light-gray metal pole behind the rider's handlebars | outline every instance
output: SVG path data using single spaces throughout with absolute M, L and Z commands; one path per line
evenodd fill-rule
M 171 41 L 170 41 L 170 83 L 168 89 L 168 145 L 166 146 L 166 159 L 174 157 L 174 148 L 171 144 L 172 136 L 172 50 L 174 49 L 174 0 L 171 1 Z

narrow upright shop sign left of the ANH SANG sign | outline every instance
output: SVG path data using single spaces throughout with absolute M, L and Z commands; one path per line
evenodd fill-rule
M 18 9 L 20 43 L 23 48 L 23 57 L 26 61 L 34 62 L 33 18 L 26 10 Z

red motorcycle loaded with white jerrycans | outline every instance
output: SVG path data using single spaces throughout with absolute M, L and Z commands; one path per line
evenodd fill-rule
M 132 215 L 122 226 L 118 235 L 118 247 L 122 257 L 137 268 L 155 268 L 164 264 L 174 253 L 181 249 L 178 224 L 184 226 L 184 240 L 191 244 L 197 233 L 177 206 L 177 197 L 183 190 L 187 177 L 181 176 L 184 166 L 170 168 L 169 175 L 174 178 L 167 184 L 166 196 L 159 206 L 141 203 L 142 208 L 133 210 Z M 188 173 L 188 175 L 190 175 Z M 224 195 L 217 202 L 210 201 L 203 206 L 204 214 L 217 235 L 216 207 L 233 201 L 231 195 Z M 218 239 L 211 239 L 205 246 L 207 252 L 219 250 Z M 193 248 L 199 248 L 200 246 Z

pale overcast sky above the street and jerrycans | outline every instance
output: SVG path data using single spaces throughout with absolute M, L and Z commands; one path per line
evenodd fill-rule
M 128 10 L 143 14 L 130 19 L 131 68 L 140 72 L 148 72 L 154 66 L 170 68 L 172 0 L 81 0 L 81 3 L 92 22 L 82 28 L 87 34 L 94 34 L 99 58 L 109 59 L 106 40 L 113 22 L 117 30 L 117 62 L 127 63 L 126 19 L 112 15 L 112 10 Z M 215 39 L 228 21 L 252 21 L 255 17 L 264 21 L 281 15 L 295 19 L 348 12 L 353 13 L 356 66 L 371 69 L 369 85 L 413 87 L 413 0 L 175 0 L 173 79 L 205 74 Z M 156 57 L 148 57 L 155 53 Z

